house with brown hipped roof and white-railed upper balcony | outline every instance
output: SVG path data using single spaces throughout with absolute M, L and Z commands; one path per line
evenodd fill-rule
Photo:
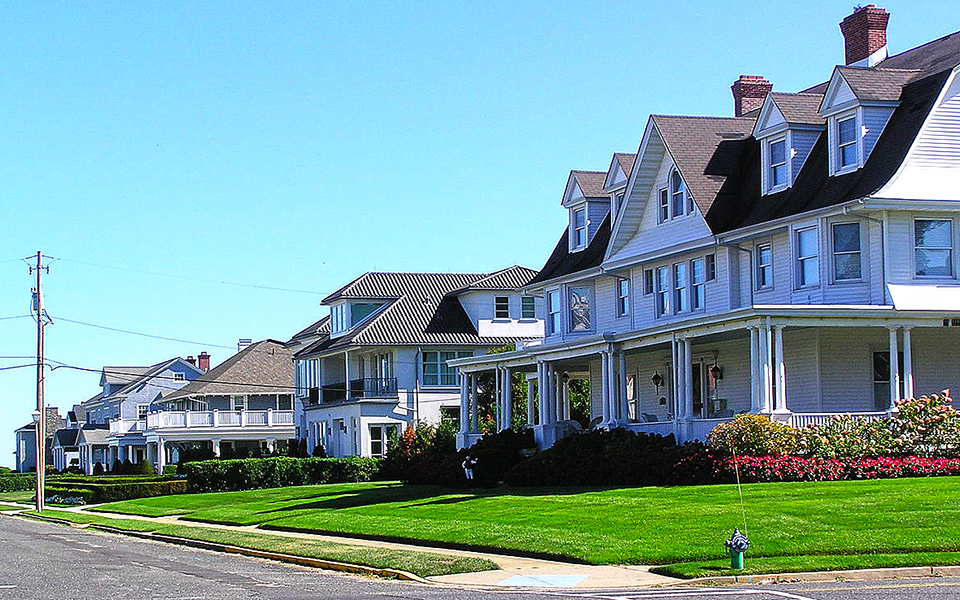
M 296 438 L 293 354 L 263 340 L 154 402 L 138 423 L 159 469 L 184 448 L 272 452 Z

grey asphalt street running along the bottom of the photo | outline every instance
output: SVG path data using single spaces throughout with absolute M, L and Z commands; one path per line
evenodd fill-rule
M 0 600 L 860 600 L 960 598 L 960 579 L 631 591 L 463 590 L 343 575 L 0 517 Z

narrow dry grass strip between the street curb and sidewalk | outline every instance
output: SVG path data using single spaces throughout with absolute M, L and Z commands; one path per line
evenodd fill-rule
M 36 513 L 33 512 L 24 514 L 36 515 Z M 266 533 L 210 529 L 202 526 L 157 523 L 134 519 L 111 519 L 101 515 L 71 511 L 45 510 L 43 514 L 47 517 L 54 517 L 72 523 L 108 525 L 126 531 L 155 532 L 191 540 L 202 540 L 242 548 L 252 548 L 254 550 L 280 552 L 294 556 L 319 558 L 369 567 L 400 569 L 421 577 L 487 571 L 498 568 L 494 563 L 480 558 L 445 556 L 433 552 L 412 552 L 406 550 L 348 546 L 332 542 L 280 537 Z

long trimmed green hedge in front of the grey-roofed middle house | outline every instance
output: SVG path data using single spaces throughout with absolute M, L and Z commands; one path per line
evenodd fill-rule
M 180 465 L 187 491 L 235 492 L 294 485 L 370 481 L 380 469 L 376 458 L 241 458 Z

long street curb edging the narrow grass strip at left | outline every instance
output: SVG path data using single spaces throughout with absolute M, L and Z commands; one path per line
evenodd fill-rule
M 267 560 L 275 560 L 278 562 L 285 562 L 291 564 L 297 564 L 305 567 L 315 567 L 320 569 L 327 569 L 330 571 L 341 571 L 345 573 L 355 573 L 362 575 L 375 575 L 377 577 L 386 577 L 390 579 L 401 579 L 405 581 L 415 581 L 417 583 L 424 583 L 428 585 L 438 585 L 434 581 L 424 579 L 419 575 L 415 575 L 408 571 L 401 571 L 400 569 L 386 569 L 378 567 L 368 567 L 366 565 L 355 565 L 351 563 L 338 562 L 333 560 L 324 560 L 321 558 L 310 558 L 307 556 L 296 556 L 293 554 L 284 554 L 282 552 L 270 552 L 268 550 L 254 550 L 253 548 L 243 548 L 241 546 L 231 546 L 229 544 L 218 544 L 216 542 L 206 542 L 202 540 L 192 540 L 190 538 L 182 538 L 173 535 L 166 535 L 163 533 L 154 533 L 154 532 L 145 532 L 145 531 L 130 531 L 126 529 L 120 529 L 117 527 L 111 527 L 109 525 L 99 525 L 96 523 L 74 523 L 72 521 L 67 521 L 65 519 L 58 519 L 56 517 L 38 516 L 30 515 L 28 518 L 36 519 L 38 521 L 48 521 L 51 523 L 56 523 L 58 525 L 68 525 L 71 527 L 80 527 L 83 529 L 96 529 L 98 531 L 103 531 L 106 533 L 113 533 L 117 535 L 126 535 L 129 537 L 135 537 L 144 540 L 152 540 L 155 542 L 165 542 L 168 544 L 176 544 L 178 546 L 188 546 L 190 548 L 198 548 L 201 550 L 212 550 L 214 552 L 223 552 L 226 554 L 240 554 L 242 556 L 249 556 L 252 558 L 263 558 Z

